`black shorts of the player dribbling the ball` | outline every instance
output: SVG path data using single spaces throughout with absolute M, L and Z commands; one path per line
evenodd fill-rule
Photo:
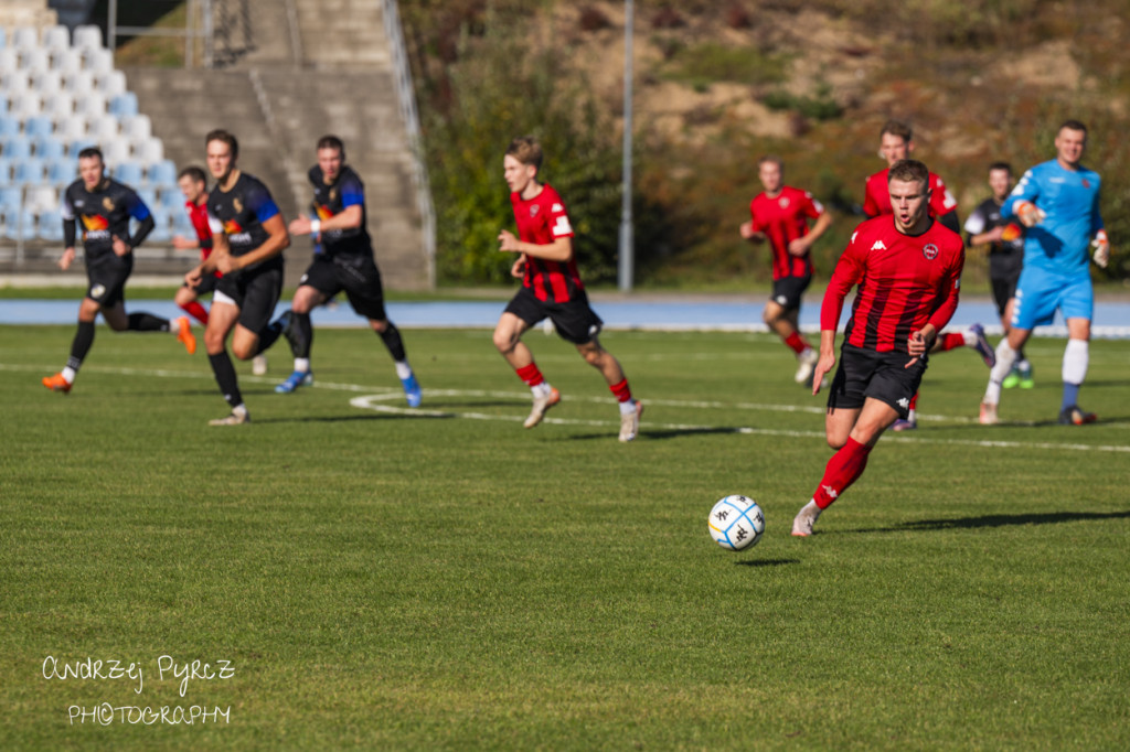
M 828 392 L 828 409 L 862 408 L 871 397 L 890 405 L 905 420 L 927 367 L 924 357 L 907 368 L 910 360 L 905 352 L 876 352 L 845 342 Z

